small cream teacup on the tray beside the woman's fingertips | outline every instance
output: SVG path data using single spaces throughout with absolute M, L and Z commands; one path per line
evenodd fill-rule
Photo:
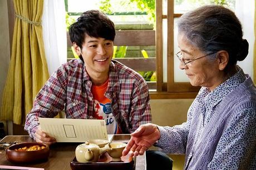
M 110 143 L 111 150 L 107 151 L 107 153 L 109 153 L 109 156 L 112 157 L 113 162 L 121 161 L 122 151 L 124 151 L 125 147 L 126 147 L 126 143 L 122 143 L 122 142 Z

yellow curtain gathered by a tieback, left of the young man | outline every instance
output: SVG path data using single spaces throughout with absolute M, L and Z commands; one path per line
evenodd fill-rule
M 23 124 L 49 73 L 41 26 L 43 0 L 13 2 L 16 19 L 0 119 Z

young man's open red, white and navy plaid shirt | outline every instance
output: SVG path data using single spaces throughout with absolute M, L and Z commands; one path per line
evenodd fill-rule
M 63 64 L 37 94 L 24 129 L 34 137 L 39 125 L 38 117 L 55 117 L 63 109 L 66 118 L 92 118 L 91 86 L 85 64 L 80 59 Z M 110 64 L 105 96 L 111 99 L 112 114 L 122 133 L 134 132 L 141 124 L 151 122 L 149 89 L 145 80 L 114 60 Z

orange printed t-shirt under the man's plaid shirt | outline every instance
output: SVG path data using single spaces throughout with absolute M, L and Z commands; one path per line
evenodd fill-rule
M 117 126 L 116 119 L 111 111 L 111 100 L 104 96 L 108 83 L 109 79 L 101 86 L 92 85 L 94 103 L 93 117 L 96 119 L 105 119 L 107 134 L 120 134 L 122 132 Z

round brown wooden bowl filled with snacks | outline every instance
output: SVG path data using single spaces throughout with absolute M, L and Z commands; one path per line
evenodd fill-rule
M 36 142 L 18 143 L 6 149 L 6 158 L 13 163 L 42 162 L 48 159 L 49 154 L 47 144 Z

